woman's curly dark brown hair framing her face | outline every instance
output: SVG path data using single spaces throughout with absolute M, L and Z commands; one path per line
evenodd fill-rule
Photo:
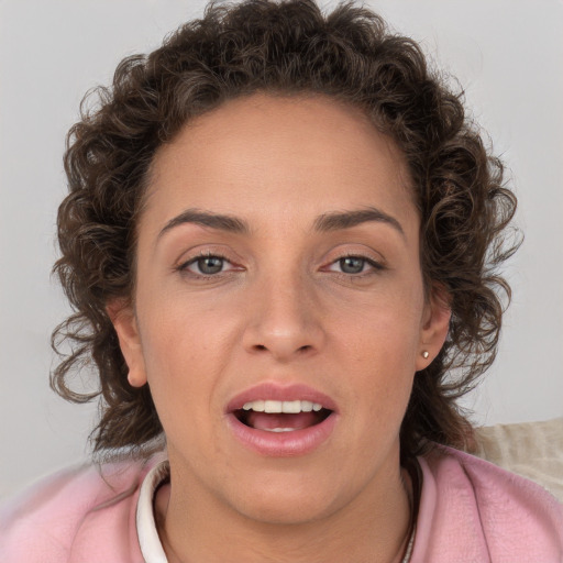
M 211 2 L 161 48 L 123 59 L 112 86 L 93 90 L 93 108 L 85 98 L 67 136 L 69 195 L 58 211 L 62 256 L 54 268 L 75 312 L 53 333 L 62 361 L 51 382 L 73 401 L 100 396 L 95 452 L 134 451 L 163 433 L 148 386 L 128 383 L 107 312 L 134 291 L 135 224 L 155 152 L 195 117 L 256 91 L 322 93 L 358 107 L 405 154 L 426 287 L 445 288 L 452 317 L 440 354 L 415 378 L 401 456 L 433 442 L 467 446 L 471 423 L 456 399 L 496 354 L 510 297 L 497 267 L 517 246 L 506 235 L 516 198 L 463 96 L 445 82 L 417 43 L 353 2 L 323 15 L 312 0 L 247 0 Z M 99 389 L 74 391 L 71 373 L 92 363 Z

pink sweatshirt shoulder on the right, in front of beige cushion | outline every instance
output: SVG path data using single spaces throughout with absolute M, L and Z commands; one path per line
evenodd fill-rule
M 419 462 L 420 561 L 563 561 L 563 506 L 545 489 L 450 448 Z

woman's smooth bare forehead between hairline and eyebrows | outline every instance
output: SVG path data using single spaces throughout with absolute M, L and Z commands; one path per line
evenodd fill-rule
M 161 224 L 181 208 L 260 222 L 376 206 L 406 220 L 409 184 L 402 153 L 358 108 L 255 93 L 192 120 L 161 147 L 146 208 Z

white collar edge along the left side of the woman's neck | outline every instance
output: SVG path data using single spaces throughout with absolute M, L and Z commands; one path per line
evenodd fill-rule
M 170 475 L 168 460 L 156 464 L 145 476 L 136 503 L 136 533 L 145 563 L 167 563 L 154 521 L 154 495 Z

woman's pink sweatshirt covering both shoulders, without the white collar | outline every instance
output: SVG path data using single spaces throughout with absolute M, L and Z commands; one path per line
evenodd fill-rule
M 162 457 L 63 471 L 0 508 L 2 563 L 142 563 L 140 484 Z M 499 467 L 441 448 L 423 484 L 411 563 L 561 563 L 563 505 Z

